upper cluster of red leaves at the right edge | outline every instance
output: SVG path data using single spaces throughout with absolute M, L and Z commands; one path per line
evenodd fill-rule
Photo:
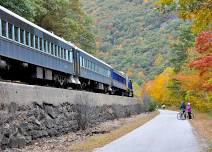
M 198 52 L 212 52 L 212 30 L 200 33 L 196 38 L 195 47 Z

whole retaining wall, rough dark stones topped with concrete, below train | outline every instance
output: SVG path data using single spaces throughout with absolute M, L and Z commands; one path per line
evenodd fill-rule
M 0 84 L 0 89 L 1 86 Z M 22 87 L 20 88 L 22 91 L 20 91 L 18 89 L 21 86 L 13 88 L 10 86 L 11 90 L 7 86 L 4 87 L 4 91 L 0 90 L 3 93 L 0 94 L 0 149 L 21 148 L 39 138 L 60 136 L 96 126 L 107 120 L 144 112 L 144 106 L 133 98 L 101 94 L 95 96 L 94 93 L 83 92 L 76 93 L 77 96 L 74 96 L 71 94 L 73 91 L 63 89 L 61 89 L 62 91 L 56 89 L 56 91 L 54 88 L 45 90 L 48 89 L 46 87 L 38 87 L 40 90 L 35 93 L 33 86 L 24 86 L 26 88 Z M 34 96 L 24 94 L 27 88 L 28 93 Z M 54 91 L 52 92 L 51 89 Z M 15 90 L 18 93 L 13 92 Z M 41 93 L 43 90 L 48 94 L 46 96 L 44 96 L 45 92 L 43 92 L 43 96 L 38 94 L 36 96 L 38 102 L 34 101 L 35 94 Z M 63 96 L 60 95 L 61 92 L 66 96 L 61 98 L 62 101 L 59 98 Z M 2 98 L 2 95 L 6 96 Z M 58 102 L 55 99 L 53 101 L 46 100 L 53 99 L 49 95 L 58 96 L 56 97 Z M 42 101 L 41 98 L 45 100 Z

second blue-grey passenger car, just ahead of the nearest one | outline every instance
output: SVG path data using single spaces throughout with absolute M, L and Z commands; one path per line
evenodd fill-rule
M 80 82 L 84 88 L 108 92 L 111 85 L 111 66 L 77 48 L 80 56 Z

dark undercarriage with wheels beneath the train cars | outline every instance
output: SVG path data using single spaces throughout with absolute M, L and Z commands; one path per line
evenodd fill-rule
M 125 90 L 0 56 L 0 79 L 30 85 L 130 96 Z

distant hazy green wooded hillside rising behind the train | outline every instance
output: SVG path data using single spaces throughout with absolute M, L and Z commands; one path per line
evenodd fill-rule
M 97 55 L 139 85 L 170 65 L 171 46 L 186 25 L 156 0 L 81 0 L 96 26 Z

